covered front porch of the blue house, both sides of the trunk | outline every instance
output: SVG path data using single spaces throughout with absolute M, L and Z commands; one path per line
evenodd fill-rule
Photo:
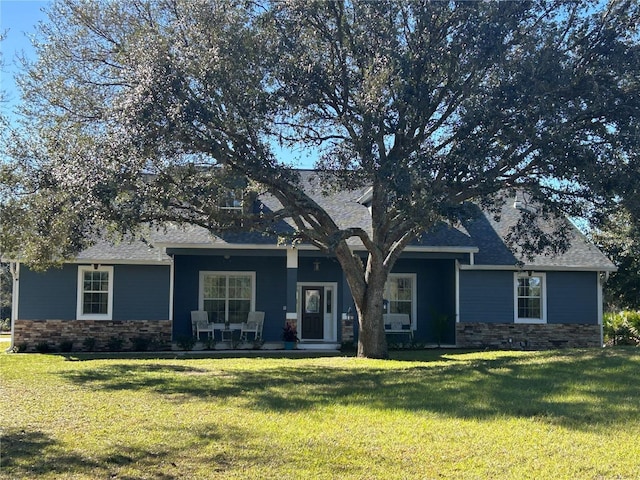
M 172 258 L 174 343 L 192 336 L 194 311 L 206 312 L 212 324 L 194 345 L 201 350 L 284 349 L 287 324 L 296 329 L 301 350 L 335 350 L 357 339 L 353 298 L 335 258 L 278 245 L 166 251 Z M 414 253 L 397 262 L 385 311 L 410 320 L 407 338 L 390 335 L 390 344 L 455 344 L 456 272 L 451 255 Z M 250 312 L 264 313 L 259 341 L 240 338 Z

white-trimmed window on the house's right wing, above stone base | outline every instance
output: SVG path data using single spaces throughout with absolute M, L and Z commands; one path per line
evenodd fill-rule
M 546 323 L 545 280 L 544 273 L 515 274 L 516 323 Z

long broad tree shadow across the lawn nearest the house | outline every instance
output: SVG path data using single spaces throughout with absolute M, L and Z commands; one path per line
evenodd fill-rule
M 92 388 L 150 390 L 176 401 L 237 398 L 279 412 L 362 405 L 457 418 L 534 417 L 576 429 L 640 417 L 638 352 L 535 352 L 495 359 L 447 353 L 439 360 L 395 365 L 327 367 L 289 360 L 277 368 L 243 370 L 141 362 L 64 376 Z

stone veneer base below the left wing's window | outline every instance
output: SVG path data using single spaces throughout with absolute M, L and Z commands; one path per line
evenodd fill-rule
M 62 342 L 73 342 L 72 351 L 84 350 L 86 338 L 93 338 L 94 352 L 112 350 L 113 339 L 120 339 L 122 350 L 132 350 L 134 339 L 146 339 L 149 349 L 171 349 L 171 320 L 16 320 L 13 345 L 26 346 L 27 352 L 46 342 L 54 350 Z

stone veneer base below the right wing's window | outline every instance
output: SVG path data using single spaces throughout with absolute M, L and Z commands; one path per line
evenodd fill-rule
M 602 326 L 593 324 L 457 323 L 461 348 L 584 348 L 602 346 Z

